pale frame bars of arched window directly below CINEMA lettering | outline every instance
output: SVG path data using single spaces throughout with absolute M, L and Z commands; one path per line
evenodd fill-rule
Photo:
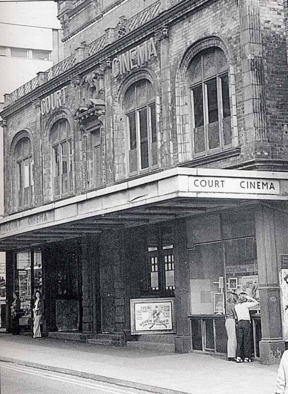
M 154 89 L 153 84 L 151 81 L 147 78 L 141 78 L 132 84 L 128 86 L 130 88 L 131 86 L 134 85 L 134 97 L 135 97 L 135 106 L 133 109 L 126 110 L 125 109 L 125 100 L 124 100 L 124 109 L 125 109 L 125 116 L 126 116 L 126 128 L 127 128 L 127 139 L 128 139 L 128 173 L 129 175 L 137 175 L 137 174 L 142 174 L 146 173 L 148 171 L 151 171 L 153 169 L 158 168 L 159 166 L 159 160 L 158 160 L 158 136 L 157 136 L 157 111 L 156 111 L 156 100 L 151 99 L 148 100 L 145 104 L 138 105 L 137 103 L 137 83 L 140 81 L 145 81 L 146 82 L 146 91 L 147 91 L 147 83 L 151 84 L 152 88 Z M 128 91 L 128 88 L 126 89 L 126 92 Z M 125 92 L 125 94 L 126 94 Z M 124 94 L 124 97 L 125 97 Z M 152 107 L 154 106 L 154 112 L 155 112 L 155 119 L 154 123 L 152 119 Z M 147 158 L 142 157 L 142 152 L 141 152 L 141 125 L 140 125 L 140 112 L 143 110 L 146 110 L 146 125 L 147 125 Z M 136 136 L 136 164 L 137 168 L 135 170 L 130 169 L 130 152 L 132 151 L 131 148 L 131 139 L 130 139 L 130 123 L 129 123 L 129 116 L 134 116 L 134 122 L 135 122 L 135 136 Z M 155 129 L 156 133 L 156 141 L 153 141 L 153 129 Z M 156 143 L 156 151 L 157 151 L 157 163 L 153 163 L 153 143 Z M 147 160 L 148 161 L 148 166 L 142 168 L 142 160 Z

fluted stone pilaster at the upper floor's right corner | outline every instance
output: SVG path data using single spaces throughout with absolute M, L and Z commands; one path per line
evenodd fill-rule
M 245 159 L 271 157 L 265 119 L 264 68 L 259 0 L 239 1 Z

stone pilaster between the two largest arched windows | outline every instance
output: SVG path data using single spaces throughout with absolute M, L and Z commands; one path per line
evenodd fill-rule
M 160 165 L 169 167 L 173 164 L 172 142 L 172 102 L 171 102 L 171 79 L 170 79 L 170 53 L 168 27 L 162 28 L 155 34 L 156 40 L 160 41 L 161 62 L 161 148 Z

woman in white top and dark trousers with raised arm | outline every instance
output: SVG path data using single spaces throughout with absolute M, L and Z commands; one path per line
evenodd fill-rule
M 240 293 L 238 302 L 235 305 L 235 311 L 238 318 L 238 324 L 236 328 L 236 362 L 252 362 L 252 329 L 249 308 L 256 305 L 258 305 L 258 301 L 256 301 L 256 299 L 248 296 L 246 293 Z

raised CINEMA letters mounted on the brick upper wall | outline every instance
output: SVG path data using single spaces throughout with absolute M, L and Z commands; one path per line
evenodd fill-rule
M 116 56 L 112 61 L 112 74 L 114 78 L 124 75 L 134 68 L 144 66 L 152 58 L 158 58 L 154 39 L 143 42 L 142 45 L 129 49 L 127 52 Z

